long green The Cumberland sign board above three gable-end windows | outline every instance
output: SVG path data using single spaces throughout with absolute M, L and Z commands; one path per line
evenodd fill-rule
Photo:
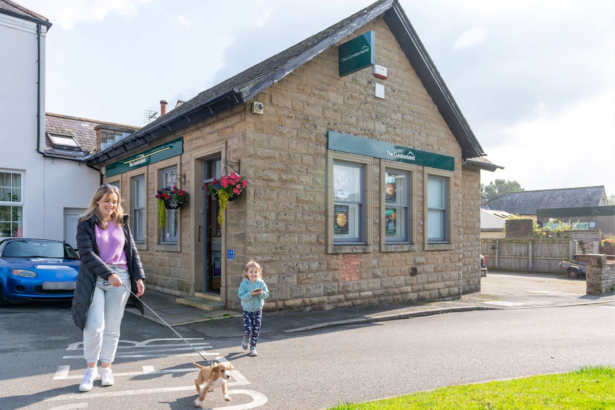
M 453 157 L 333 131 L 328 132 L 327 148 L 446 171 L 454 171 L 455 167 Z

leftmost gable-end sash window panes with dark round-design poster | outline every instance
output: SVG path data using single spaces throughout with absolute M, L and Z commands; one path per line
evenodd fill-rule
M 333 243 L 364 242 L 363 166 L 333 163 Z

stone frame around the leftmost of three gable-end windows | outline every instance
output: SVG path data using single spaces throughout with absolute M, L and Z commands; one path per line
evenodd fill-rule
M 349 164 L 362 168 L 362 215 L 360 216 L 360 237 L 357 242 L 336 242 L 333 232 L 335 216 L 333 188 L 333 165 L 335 163 Z M 362 253 L 373 251 L 373 158 L 349 154 L 347 152 L 327 151 L 327 253 Z M 354 202 L 353 202 L 354 203 Z

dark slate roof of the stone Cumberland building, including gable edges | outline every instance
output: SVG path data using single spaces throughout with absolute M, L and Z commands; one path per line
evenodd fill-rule
M 382 16 L 402 47 L 416 74 L 434 100 L 440 113 L 459 142 L 464 158 L 480 157 L 484 151 L 461 114 L 453 96 L 444 84 L 440 73 L 398 0 L 380 0 L 365 9 L 344 18 L 320 33 L 298 42 L 292 47 L 261 61 L 241 73 L 212 88 L 205 90 L 186 103 L 176 106 L 141 128 L 133 135 L 113 144 L 88 159 L 89 164 L 98 165 L 122 156 L 125 152 L 145 146 L 157 138 L 204 120 L 218 112 L 244 104 L 264 89 L 292 73 L 324 50 L 359 30 L 365 24 Z

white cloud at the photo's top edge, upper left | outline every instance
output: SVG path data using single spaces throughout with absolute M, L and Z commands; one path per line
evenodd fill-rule
M 28 1 L 29 9 L 49 18 L 54 26 L 73 30 L 80 22 L 101 22 L 109 13 L 131 18 L 137 15 L 137 7 L 151 0 L 62 0 Z

